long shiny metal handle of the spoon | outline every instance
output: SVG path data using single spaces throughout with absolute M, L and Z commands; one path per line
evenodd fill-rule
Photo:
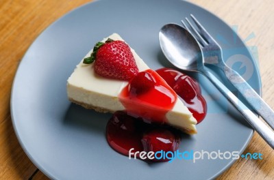
M 203 70 L 201 74 L 208 77 L 212 84 L 231 102 L 242 117 L 260 134 L 262 138 L 274 149 L 274 132 L 264 124 L 253 112 L 243 104 L 223 83 L 210 72 Z

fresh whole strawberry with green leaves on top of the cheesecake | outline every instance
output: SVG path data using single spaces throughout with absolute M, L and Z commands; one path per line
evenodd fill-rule
M 138 67 L 132 51 L 125 42 L 108 39 L 98 42 L 90 57 L 84 63 L 95 61 L 95 72 L 105 78 L 130 80 L 138 73 Z

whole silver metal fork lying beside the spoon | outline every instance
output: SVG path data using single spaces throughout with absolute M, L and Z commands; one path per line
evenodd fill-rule
M 245 97 L 245 100 L 249 103 L 249 105 L 255 110 L 266 123 L 269 124 L 272 129 L 274 129 L 274 111 L 269 107 L 262 97 L 253 90 L 253 88 L 245 81 L 238 72 L 232 70 L 229 66 L 225 64 L 223 61 L 223 52 L 221 46 L 214 40 L 214 38 L 206 31 L 206 29 L 199 23 L 199 21 L 190 14 L 195 25 L 190 23 L 188 18 L 185 18 L 182 24 L 184 27 L 195 37 L 197 42 L 201 47 L 203 52 L 203 63 L 214 65 L 219 67 L 227 77 L 227 79 L 232 83 L 232 85 L 238 90 L 237 93 L 240 93 L 242 97 Z

